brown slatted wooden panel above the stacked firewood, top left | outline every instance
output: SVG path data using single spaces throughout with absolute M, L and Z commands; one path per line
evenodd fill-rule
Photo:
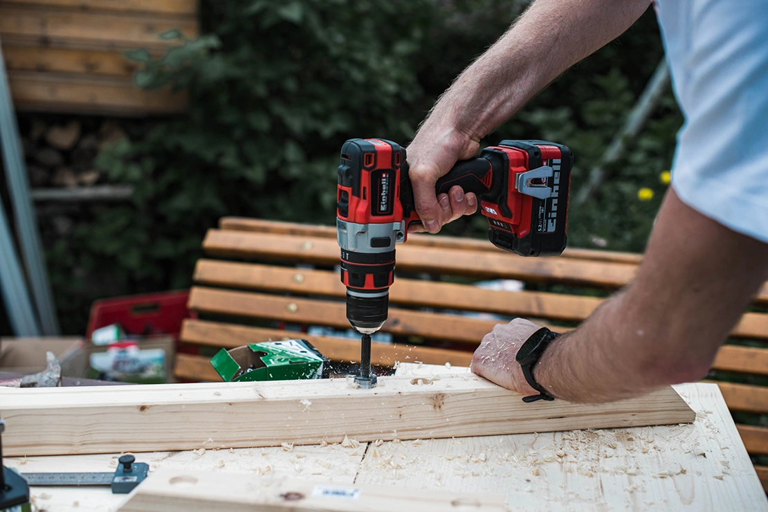
M 0 39 L 18 110 L 142 115 L 184 111 L 182 94 L 134 87 L 136 64 L 177 28 L 197 36 L 197 0 L 0 0 Z M 177 43 L 175 43 L 177 44 Z

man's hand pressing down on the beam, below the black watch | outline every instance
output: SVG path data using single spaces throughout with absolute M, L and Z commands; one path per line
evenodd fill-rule
M 522 395 L 538 395 L 538 391 L 528 385 L 520 363 L 515 360 L 525 340 L 538 329 L 540 325 L 524 319 L 495 325 L 483 336 L 472 356 L 472 372 Z

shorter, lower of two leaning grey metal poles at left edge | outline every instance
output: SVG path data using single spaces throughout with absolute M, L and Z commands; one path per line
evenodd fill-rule
M 40 327 L 32 311 L 27 283 L 21 263 L 16 256 L 11 230 L 5 218 L 2 200 L 0 200 L 0 292 L 8 311 L 8 320 L 17 336 L 39 336 Z

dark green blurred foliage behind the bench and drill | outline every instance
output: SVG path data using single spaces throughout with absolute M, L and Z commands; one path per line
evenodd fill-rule
M 97 296 L 188 286 L 205 231 L 220 216 L 333 223 L 336 160 L 350 137 L 406 143 L 436 97 L 524 8 L 508 0 L 250 0 L 202 2 L 203 35 L 161 58 L 137 49 L 140 88 L 187 94 L 186 115 L 137 121 L 98 167 L 136 193 L 101 206 L 49 247 L 61 312 L 81 332 Z M 574 190 L 597 164 L 661 57 L 655 20 L 564 74 L 495 134 L 551 138 L 576 154 Z M 679 124 L 670 97 L 587 207 L 571 240 L 642 249 Z M 655 187 L 654 200 L 637 200 Z M 483 236 L 484 219 L 449 226 Z M 77 269 L 72 272 L 71 269 Z

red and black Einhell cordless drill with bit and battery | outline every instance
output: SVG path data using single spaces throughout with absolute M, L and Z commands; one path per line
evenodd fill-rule
M 438 180 L 435 192 L 458 185 L 473 192 L 488 217 L 488 239 L 520 256 L 557 256 L 566 243 L 568 192 L 573 154 L 543 140 L 503 140 L 477 158 L 461 160 Z M 344 143 L 339 165 L 336 231 L 346 318 L 362 334 L 361 388 L 371 375 L 373 332 L 387 319 L 389 286 L 395 279 L 395 244 L 420 223 L 408 177 L 406 150 L 383 139 Z

